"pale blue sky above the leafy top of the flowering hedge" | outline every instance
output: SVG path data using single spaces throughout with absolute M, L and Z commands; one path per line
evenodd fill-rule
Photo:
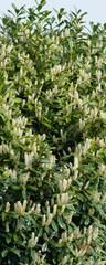
M 40 2 L 40 0 L 38 0 Z M 12 11 L 11 3 L 15 3 L 18 8 L 22 6 L 26 6 L 26 8 L 33 7 L 35 4 L 34 0 L 2 0 L 0 3 L 0 17 L 3 13 L 7 13 L 7 10 L 10 9 Z M 88 26 L 89 21 L 94 23 L 106 23 L 106 0 L 46 0 L 46 6 L 44 9 L 60 10 L 61 8 L 65 8 L 66 12 L 75 11 L 74 6 L 76 9 L 81 9 L 82 12 L 88 12 L 85 15 L 84 20 L 86 22 L 86 26 Z M 53 15 L 56 15 L 53 12 Z M 89 28 L 89 26 L 88 26 Z

